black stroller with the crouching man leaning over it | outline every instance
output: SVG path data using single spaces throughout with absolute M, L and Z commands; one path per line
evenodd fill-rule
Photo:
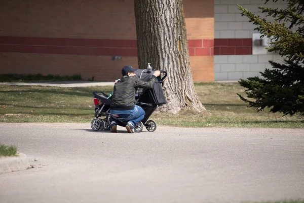
M 156 110 L 157 107 L 166 104 L 162 85 L 167 72 L 161 71 L 164 74 L 163 77 L 159 76 L 156 83 L 151 89 L 138 88 L 136 94 L 136 105 L 140 106 L 145 111 L 145 116 L 141 122 L 135 124 L 135 132 L 141 132 L 143 127 L 148 131 L 153 132 L 157 128 L 157 124 L 154 120 L 148 120 L 151 114 Z M 153 75 L 153 71 L 138 69 L 136 77 L 143 80 L 149 81 Z M 110 104 L 111 95 L 107 95 L 103 91 L 93 91 L 94 104 L 95 104 L 95 119 L 91 121 L 91 128 L 97 130 L 109 130 L 110 129 Z M 102 118 L 103 117 L 103 118 Z M 126 126 L 127 123 L 118 123 L 120 126 Z

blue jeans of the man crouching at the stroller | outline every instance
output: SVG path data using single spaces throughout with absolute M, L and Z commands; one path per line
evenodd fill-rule
M 110 110 L 110 113 L 112 121 L 115 121 L 116 123 L 118 123 L 117 121 L 130 121 L 134 126 L 136 123 L 140 122 L 145 115 L 144 110 L 137 105 L 134 105 L 134 110 Z M 117 114 L 120 117 L 114 117 L 112 114 Z

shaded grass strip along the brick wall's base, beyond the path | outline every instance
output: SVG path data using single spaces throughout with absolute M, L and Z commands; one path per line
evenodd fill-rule
M 19 74 L 1 74 L 0 82 L 35 82 L 35 81 L 75 81 L 81 80 L 80 75 L 73 76 L 43 76 L 36 75 L 19 75 Z

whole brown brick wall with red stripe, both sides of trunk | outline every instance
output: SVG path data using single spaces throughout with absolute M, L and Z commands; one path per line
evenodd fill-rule
M 213 81 L 213 0 L 184 0 L 184 13 L 188 39 L 202 42 L 190 52 L 194 80 Z M 123 65 L 137 67 L 133 0 L 5 0 L 0 27 L 0 74 L 113 81 Z

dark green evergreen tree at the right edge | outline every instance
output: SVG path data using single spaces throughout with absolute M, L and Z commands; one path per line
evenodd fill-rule
M 266 0 L 267 4 L 270 0 Z M 273 0 L 276 3 L 278 0 Z M 282 0 L 285 9 L 259 7 L 261 13 L 272 16 L 267 21 L 238 5 L 242 16 L 247 16 L 257 25 L 255 30 L 261 37 L 272 38 L 268 51 L 283 56 L 284 63 L 269 61 L 273 69 L 260 72 L 262 78 L 251 77 L 241 80 L 241 86 L 247 88 L 248 99 L 240 94 L 240 98 L 249 107 L 262 111 L 282 112 L 284 115 L 299 113 L 304 116 L 304 0 Z

